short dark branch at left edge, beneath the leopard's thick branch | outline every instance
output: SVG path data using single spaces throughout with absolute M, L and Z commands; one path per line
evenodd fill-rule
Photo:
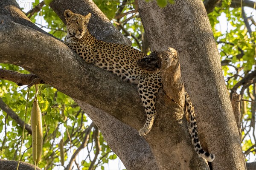
M 0 68 L 0 79 L 15 82 L 18 86 L 31 85 L 34 79 L 39 78 L 35 74 L 21 74 L 16 71 L 5 70 Z M 44 83 L 44 80 L 38 79 L 37 83 Z

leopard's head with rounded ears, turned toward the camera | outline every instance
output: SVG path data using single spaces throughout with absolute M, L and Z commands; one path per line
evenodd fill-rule
M 78 39 L 82 38 L 87 32 L 87 25 L 92 14 L 89 13 L 83 16 L 80 14 L 74 14 L 72 11 L 67 9 L 64 12 L 64 16 L 67 21 L 67 33 Z

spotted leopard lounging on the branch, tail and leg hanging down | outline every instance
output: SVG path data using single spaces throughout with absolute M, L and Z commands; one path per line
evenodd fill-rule
M 87 29 L 87 24 L 91 17 L 90 13 L 83 16 L 66 10 L 64 15 L 67 21 L 67 36 L 66 42 L 64 43 L 69 48 L 76 51 L 86 62 L 93 63 L 99 68 L 117 74 L 125 81 L 138 85 L 140 98 L 147 114 L 146 123 L 144 127 L 140 129 L 139 134 L 140 136 L 147 134 L 151 130 L 154 117 L 157 113 L 155 109 L 156 96 L 157 92 L 162 87 L 160 73 L 149 73 L 138 67 L 137 61 L 146 57 L 146 55 L 139 50 L 128 45 L 96 40 Z M 199 156 L 211 162 L 215 159 L 215 155 L 204 151 L 201 147 L 198 140 L 194 108 L 186 91 L 185 105 L 189 113 L 189 123 L 192 130 L 195 150 Z

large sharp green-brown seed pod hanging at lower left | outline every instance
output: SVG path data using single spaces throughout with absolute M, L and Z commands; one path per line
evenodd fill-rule
M 43 149 L 43 130 L 42 130 L 42 115 L 35 98 L 31 111 L 31 129 L 32 129 L 32 150 L 33 161 L 37 164 L 41 160 Z

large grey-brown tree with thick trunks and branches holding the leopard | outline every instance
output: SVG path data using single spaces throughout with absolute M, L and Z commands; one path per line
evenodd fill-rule
M 193 150 L 182 104 L 170 100 L 172 96 L 160 91 L 154 128 L 145 138 L 138 136 L 145 114 L 135 85 L 81 61 L 62 42 L 30 23 L 15 1 L 2 1 L 0 6 L 5 9 L 0 18 L 1 62 L 19 65 L 72 97 L 99 127 L 127 169 L 208 169 Z M 92 1 L 53 0 L 49 6 L 63 21 L 67 8 L 81 14 L 91 12 L 92 34 L 108 42 L 128 44 Z M 160 8 L 154 2 L 139 1 L 139 7 L 151 50 L 173 47 L 180 53 L 186 91 L 196 106 L 199 138 L 204 148 L 216 154 L 210 168 L 245 169 L 239 130 L 203 3 L 177 0 Z M 174 86 L 169 82 L 166 89 Z

